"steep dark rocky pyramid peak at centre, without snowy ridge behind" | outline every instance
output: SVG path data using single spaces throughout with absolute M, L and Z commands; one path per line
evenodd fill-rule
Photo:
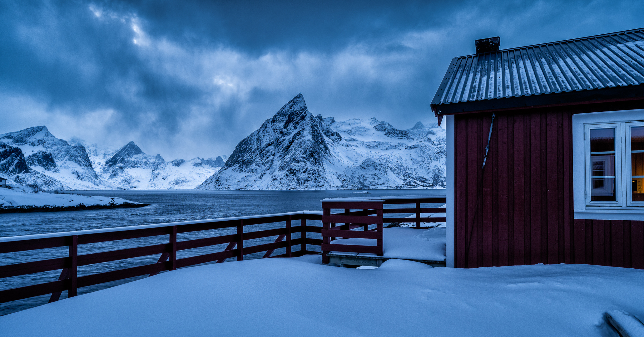
M 324 187 L 334 176 L 324 162 L 329 142 L 341 136 L 308 112 L 301 94 L 284 105 L 257 131 L 240 141 L 225 165 L 200 188 L 265 189 Z

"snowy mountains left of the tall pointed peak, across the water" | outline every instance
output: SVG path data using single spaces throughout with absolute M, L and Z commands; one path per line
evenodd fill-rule
M 47 127 L 0 134 L 0 176 L 45 190 L 190 189 L 225 164 L 225 156 L 165 161 L 133 141 L 113 150 L 53 136 Z

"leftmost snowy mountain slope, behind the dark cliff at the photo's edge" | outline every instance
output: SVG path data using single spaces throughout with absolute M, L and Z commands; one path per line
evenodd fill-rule
M 85 147 L 56 138 L 47 127 L 0 134 L 0 140 L 23 150 L 33 170 L 55 181 L 65 181 L 65 189 L 97 188 L 102 184 Z

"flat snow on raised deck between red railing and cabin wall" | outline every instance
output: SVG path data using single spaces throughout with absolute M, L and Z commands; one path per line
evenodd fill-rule
M 375 246 L 375 239 L 337 239 L 331 243 Z M 375 255 L 369 253 L 345 253 L 342 251 L 333 251 L 333 253 Z M 435 227 L 428 230 L 407 227 L 383 228 L 383 257 L 389 259 L 444 261 L 445 227 Z

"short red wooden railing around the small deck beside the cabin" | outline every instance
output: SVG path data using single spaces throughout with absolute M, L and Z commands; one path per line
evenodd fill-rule
M 329 263 L 328 253 L 341 251 L 347 253 L 370 253 L 383 256 L 383 223 L 412 223 L 415 228 L 421 223 L 444 223 L 445 217 L 421 217 L 421 213 L 445 213 L 445 208 L 421 208 L 421 204 L 445 203 L 444 197 L 413 198 L 336 198 L 322 201 L 322 263 Z M 415 208 L 383 208 L 385 204 L 415 204 Z M 332 210 L 344 210 L 333 213 Z M 351 211 L 356 210 L 356 211 Z M 384 214 L 415 214 L 415 217 L 384 217 Z M 375 216 L 372 216 L 375 215 Z M 337 223 L 343 223 L 336 225 Z M 370 224 L 375 228 L 369 229 Z M 363 230 L 354 230 L 361 228 Z M 375 246 L 363 244 L 332 243 L 337 237 L 342 239 L 375 239 Z

